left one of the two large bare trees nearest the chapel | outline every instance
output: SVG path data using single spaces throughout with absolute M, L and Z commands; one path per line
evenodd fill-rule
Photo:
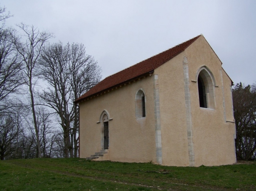
M 41 77 L 48 82 L 48 89 L 43 90 L 41 99 L 55 110 L 60 117 L 60 125 L 63 129 L 65 157 L 73 157 L 69 131 L 73 118 L 72 109 L 68 103 L 72 102 L 71 87 L 68 83 L 68 53 L 67 47 L 62 43 L 56 43 L 45 47 L 40 59 Z

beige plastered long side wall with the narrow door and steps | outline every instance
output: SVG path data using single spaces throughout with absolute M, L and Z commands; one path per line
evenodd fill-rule
M 100 152 L 102 139 L 101 113 L 109 113 L 109 149 L 103 160 L 123 162 L 156 162 L 153 76 L 79 103 L 80 157 Z M 136 119 L 135 94 L 142 88 L 146 97 L 146 117 Z

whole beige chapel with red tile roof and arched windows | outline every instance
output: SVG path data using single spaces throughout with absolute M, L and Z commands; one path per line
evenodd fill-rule
M 80 157 L 236 163 L 232 85 L 203 35 L 108 76 L 75 101 Z

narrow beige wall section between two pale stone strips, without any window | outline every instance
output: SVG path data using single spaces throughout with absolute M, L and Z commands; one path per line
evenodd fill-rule
M 183 53 L 155 69 L 159 79 L 162 164 L 189 166 Z

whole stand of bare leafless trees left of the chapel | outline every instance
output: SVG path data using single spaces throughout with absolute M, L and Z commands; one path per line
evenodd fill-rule
M 76 157 L 79 111 L 73 102 L 100 81 L 101 69 L 86 54 L 83 44 L 59 42 L 45 46 L 53 37 L 48 31 L 24 23 L 16 25 L 18 30 L 6 28 L 5 20 L 11 16 L 0 7 L 0 125 L 1 132 L 17 132 L 15 136 L 10 134 L 12 144 L 7 147 L 11 151 L 2 158 L 41 157 L 41 152 L 43 157 Z M 50 112 L 35 103 L 34 91 L 40 79 L 48 85 L 38 94 L 40 105 L 47 105 Z M 15 105 L 13 98 L 20 96 L 17 94 L 28 94 L 28 103 Z M 51 114 L 58 116 L 62 132 L 53 131 Z M 7 153 L 5 148 L 2 150 Z

